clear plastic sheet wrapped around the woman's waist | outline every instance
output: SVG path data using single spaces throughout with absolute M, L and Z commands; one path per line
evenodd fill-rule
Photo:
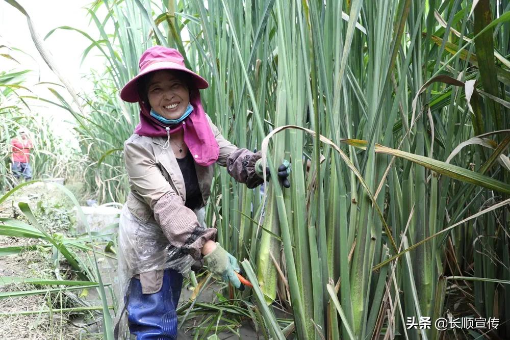
M 205 227 L 205 209 L 195 211 L 195 215 L 200 225 Z M 186 275 L 195 260 L 179 248 L 173 247 L 159 225 L 144 223 L 134 217 L 127 205 L 124 205 L 120 214 L 118 248 L 119 287 L 117 292 L 119 295 L 117 301 L 119 306 L 115 324 L 119 325 L 118 338 L 124 339 L 129 338 L 124 297 L 129 289 L 131 278 L 139 273 L 167 268 Z M 127 337 L 124 337 L 126 335 Z

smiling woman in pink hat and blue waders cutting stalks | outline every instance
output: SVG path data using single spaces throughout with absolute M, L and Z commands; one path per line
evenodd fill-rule
M 123 100 L 139 103 L 140 124 L 124 143 L 131 192 L 120 219 L 125 306 L 119 315 L 127 310 L 137 340 L 174 339 L 182 273 L 196 260 L 203 257 L 209 271 L 240 287 L 236 258 L 214 242 L 216 229 L 203 225 L 212 165 L 226 166 L 237 181 L 254 188 L 263 182 L 261 154 L 223 138 L 200 101 L 199 89 L 208 83 L 186 68 L 177 50 L 151 47 L 139 66 L 120 92 Z M 290 169 L 278 170 L 288 187 Z

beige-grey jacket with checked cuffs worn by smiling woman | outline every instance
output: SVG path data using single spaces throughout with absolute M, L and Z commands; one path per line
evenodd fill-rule
M 254 171 L 260 152 L 239 149 L 221 135 L 209 116 L 207 118 L 220 149 L 216 163 L 226 166 L 231 176 L 248 187 L 260 185 L 263 180 Z M 131 187 L 127 208 L 141 222 L 161 227 L 170 245 L 199 259 L 203 244 L 215 240 L 216 229 L 200 226 L 193 211 L 184 205 L 184 178 L 172 150 L 163 149 L 165 142 L 166 137 L 133 134 L 124 143 L 125 166 Z M 214 169 L 212 165 L 205 167 L 196 163 L 195 169 L 202 205 L 205 205 L 210 195 Z M 162 270 L 139 274 L 144 294 L 161 289 Z

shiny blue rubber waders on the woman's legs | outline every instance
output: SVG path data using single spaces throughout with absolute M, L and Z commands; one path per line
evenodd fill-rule
M 136 340 L 163 340 L 177 338 L 175 309 L 181 296 L 183 276 L 166 269 L 163 285 L 158 293 L 143 294 L 140 280 L 131 279 L 131 290 L 126 303 L 127 324 Z

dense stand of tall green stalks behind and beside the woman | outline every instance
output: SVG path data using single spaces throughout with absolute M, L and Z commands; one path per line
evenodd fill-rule
M 258 191 L 225 169 L 207 208 L 218 240 L 256 267 L 254 299 L 270 333 L 281 336 L 262 305 L 275 301 L 292 311 L 300 339 L 437 338 L 407 329 L 407 318 L 444 316 L 458 296 L 479 315 L 510 315 L 508 288 L 495 281 L 509 276 L 510 216 L 500 205 L 508 133 L 492 134 L 508 126 L 510 5 L 475 3 L 472 17 L 474 3 L 460 0 L 97 2 L 89 15 L 99 38 L 90 49 L 107 58 L 109 81 L 98 79 L 90 116 L 62 104 L 84 136 L 89 180 L 100 178 L 105 199 L 122 197 L 118 150 L 138 109 L 111 89 L 137 72 L 149 45 L 186 51 L 187 64 L 209 80 L 202 101 L 223 135 L 262 148 L 270 167 L 292 160 L 292 187 L 271 173 L 265 208 Z M 99 6 L 106 19 L 97 18 Z M 307 133 L 285 130 L 262 145 L 288 124 Z M 473 140 L 481 133 L 489 135 Z M 277 289 L 271 255 L 289 298 Z M 461 290 L 451 276 L 473 281 Z

